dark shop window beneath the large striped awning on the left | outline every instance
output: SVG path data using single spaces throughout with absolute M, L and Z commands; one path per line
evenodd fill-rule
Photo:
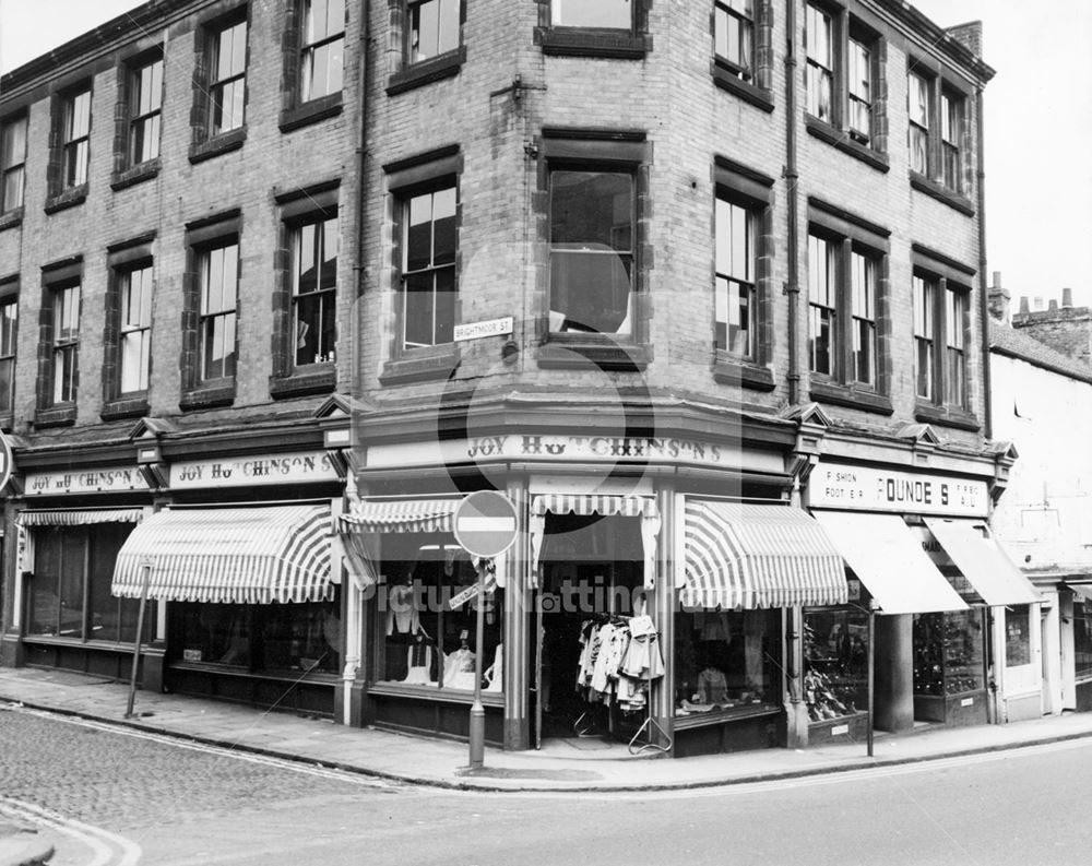
M 341 671 L 336 601 L 179 607 L 182 662 L 295 675 Z

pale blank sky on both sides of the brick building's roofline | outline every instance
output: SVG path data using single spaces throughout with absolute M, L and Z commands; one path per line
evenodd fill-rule
M 0 72 L 122 12 L 134 0 L 0 0 Z M 942 27 L 983 22 L 987 268 L 1013 305 L 1073 289 L 1092 305 L 1092 3 L 914 0 Z

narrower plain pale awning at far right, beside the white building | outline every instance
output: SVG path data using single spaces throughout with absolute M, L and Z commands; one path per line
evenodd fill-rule
M 925 525 L 986 604 L 1035 604 L 1043 601 L 1031 581 L 989 537 L 983 521 L 925 518 Z

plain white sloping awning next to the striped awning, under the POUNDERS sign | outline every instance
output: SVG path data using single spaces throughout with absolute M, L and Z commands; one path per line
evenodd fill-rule
M 966 609 L 898 514 L 816 511 L 815 515 L 868 588 L 880 613 Z

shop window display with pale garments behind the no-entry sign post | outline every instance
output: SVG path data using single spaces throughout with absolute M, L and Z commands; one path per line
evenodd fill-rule
M 478 579 L 474 562 L 453 536 L 423 539 L 390 535 L 384 542 L 379 598 L 383 653 L 378 678 L 385 683 L 473 691 Z M 491 583 L 487 576 L 487 583 Z M 483 610 L 482 688 L 503 683 L 503 591 L 486 594 Z

